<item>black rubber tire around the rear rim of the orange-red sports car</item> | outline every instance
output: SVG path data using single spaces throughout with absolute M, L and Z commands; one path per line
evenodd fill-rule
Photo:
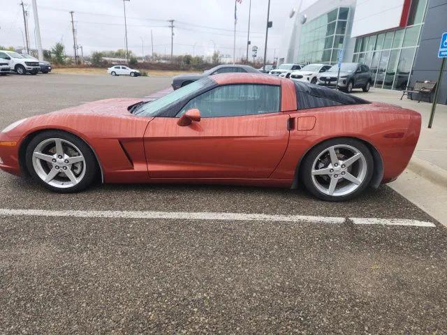
M 318 155 L 321 154 L 322 151 L 337 144 L 346 144 L 360 151 L 360 153 L 365 157 L 367 171 L 362 183 L 352 193 L 335 196 L 323 193 L 314 185 L 314 182 L 312 181 L 312 169 L 314 167 L 312 165 L 314 164 L 314 161 L 316 161 Z M 369 183 L 372 179 L 373 172 L 374 172 L 374 161 L 368 147 L 360 140 L 356 140 L 350 137 L 339 137 L 334 138 L 332 140 L 327 140 L 325 142 L 321 142 L 320 144 L 317 144 L 314 148 L 312 148 L 305 157 L 304 161 L 302 161 L 299 177 L 301 178 L 302 184 L 305 185 L 307 191 L 309 191 L 309 193 L 312 193 L 312 195 L 314 195 L 316 198 L 325 201 L 345 201 L 350 200 L 352 198 L 356 198 L 358 195 L 360 195 L 360 193 L 365 191 L 365 188 L 369 186 Z

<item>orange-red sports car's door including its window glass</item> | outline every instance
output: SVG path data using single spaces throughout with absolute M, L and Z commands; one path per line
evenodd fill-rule
M 151 178 L 267 179 L 288 144 L 280 87 L 231 84 L 192 98 L 176 117 L 155 117 L 145 151 Z M 200 121 L 179 126 L 187 110 Z

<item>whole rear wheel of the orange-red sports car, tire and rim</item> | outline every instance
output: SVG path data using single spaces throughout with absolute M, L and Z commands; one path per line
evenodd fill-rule
M 353 138 L 337 138 L 314 147 L 302 165 L 302 181 L 317 198 L 344 201 L 369 185 L 374 170 L 372 154 Z

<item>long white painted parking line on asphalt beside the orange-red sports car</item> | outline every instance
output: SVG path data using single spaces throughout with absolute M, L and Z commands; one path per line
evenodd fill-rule
M 278 221 L 356 225 L 409 225 L 436 227 L 434 223 L 403 218 L 342 218 L 335 216 L 268 215 L 186 211 L 52 211 L 46 209 L 0 209 L 0 216 L 68 216 L 73 218 L 161 218 L 213 221 Z

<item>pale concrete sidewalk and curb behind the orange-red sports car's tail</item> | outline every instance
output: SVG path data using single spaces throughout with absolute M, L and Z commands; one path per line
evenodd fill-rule
M 390 186 L 447 226 L 447 105 L 437 105 L 431 129 L 431 103 L 411 101 L 399 91 L 371 89 L 355 92 L 369 101 L 400 105 L 422 115 L 422 128 L 413 158 L 404 173 Z

